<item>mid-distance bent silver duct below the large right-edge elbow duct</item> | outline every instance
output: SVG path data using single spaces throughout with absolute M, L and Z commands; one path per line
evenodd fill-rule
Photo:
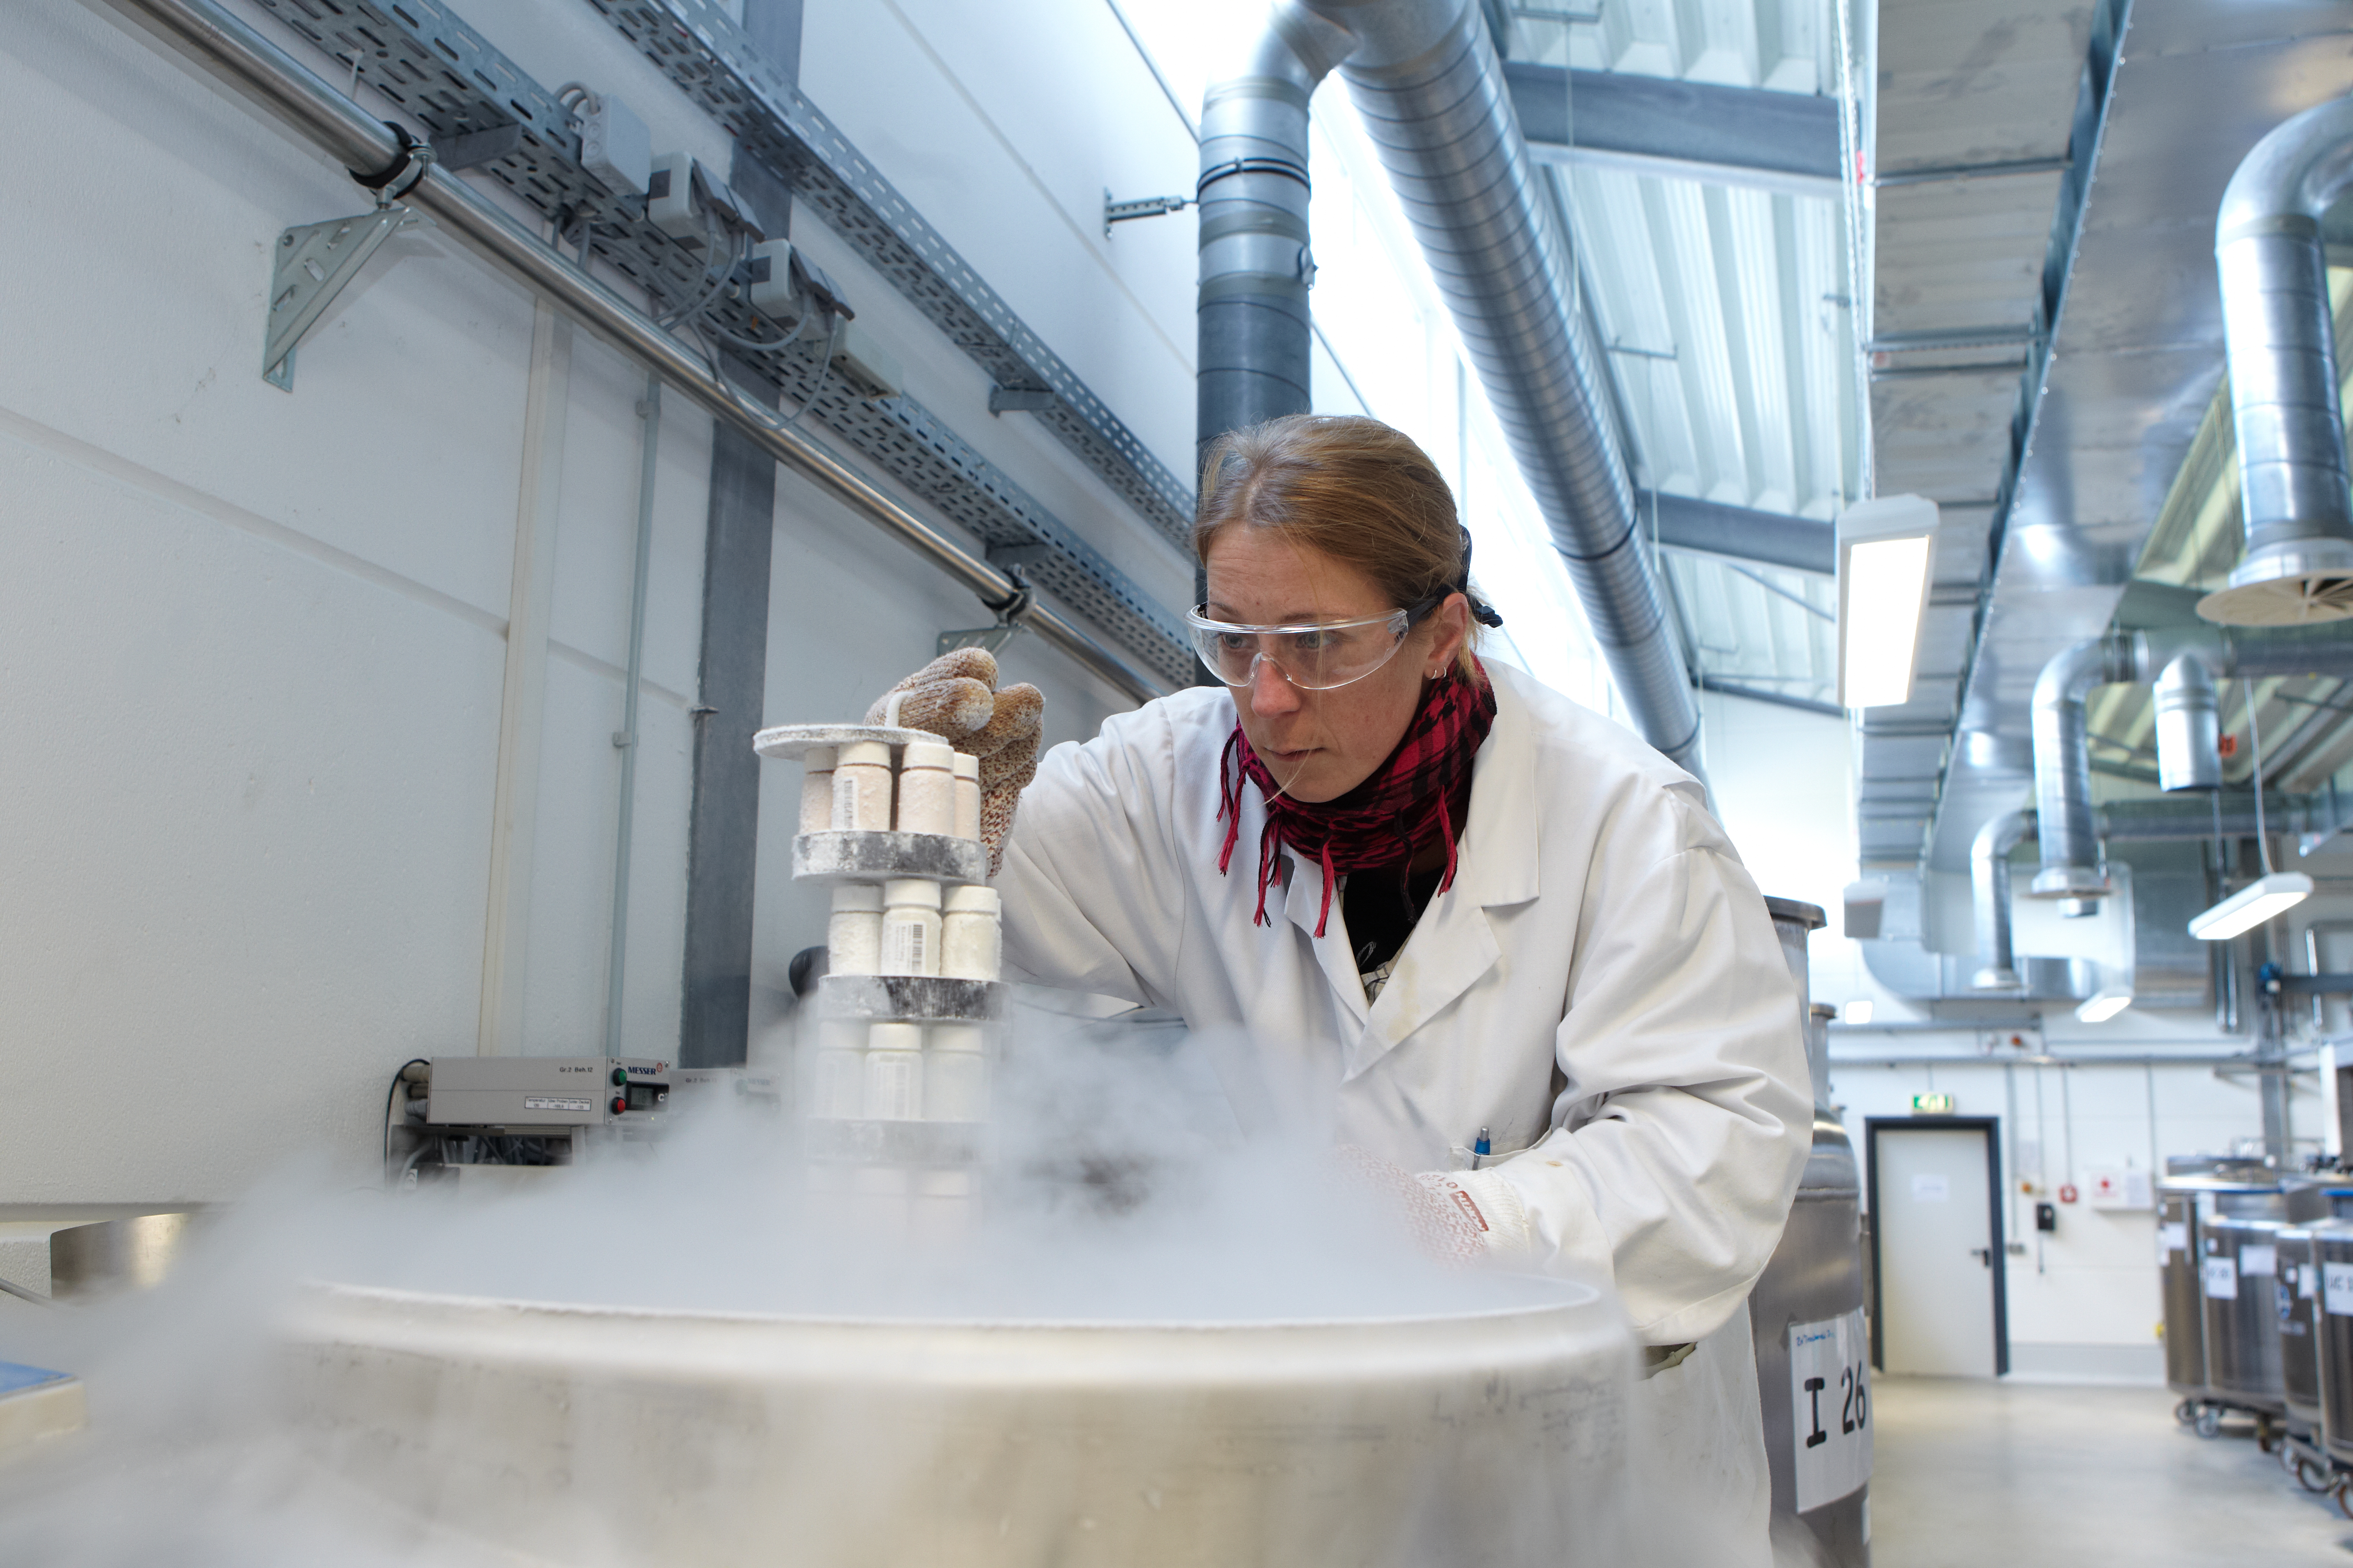
M 2111 682 L 2167 677 L 2177 691 L 2193 689 L 2195 679 L 2174 670 L 2177 661 L 2198 663 L 2207 686 L 2240 675 L 2344 675 L 2353 670 L 2353 628 L 2108 632 L 2078 642 L 2042 665 L 2035 679 L 2035 809 L 2042 870 L 2028 889 L 2035 898 L 2092 900 L 2108 893 L 2108 879 L 2099 870 L 2092 748 L 2085 741 L 2082 705 L 2092 686 Z M 2181 736 L 2188 736 L 2188 726 Z M 2177 776 L 2179 771 L 2177 762 Z

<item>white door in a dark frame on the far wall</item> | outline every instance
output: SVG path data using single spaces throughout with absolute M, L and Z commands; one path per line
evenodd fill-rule
M 1880 1354 L 1889 1373 L 1993 1378 L 1993 1208 L 1981 1128 L 1878 1135 Z

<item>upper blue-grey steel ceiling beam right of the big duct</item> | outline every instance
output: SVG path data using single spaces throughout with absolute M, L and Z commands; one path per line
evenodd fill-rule
M 1544 162 L 1838 195 L 1838 99 L 1624 71 L 1569 71 L 1562 82 L 1560 66 L 1527 61 L 1506 61 L 1504 78 L 1527 150 Z

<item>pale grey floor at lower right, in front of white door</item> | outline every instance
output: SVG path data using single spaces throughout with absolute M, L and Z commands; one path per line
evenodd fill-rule
M 2165 1389 L 1875 1378 L 1873 1568 L 2353 1568 L 2353 1521 Z

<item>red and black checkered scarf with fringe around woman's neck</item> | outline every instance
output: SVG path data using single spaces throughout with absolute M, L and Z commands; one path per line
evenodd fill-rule
M 1304 802 L 1285 795 L 1259 755 L 1249 750 L 1242 726 L 1233 726 L 1233 738 L 1226 741 L 1226 752 L 1217 762 L 1217 813 L 1226 820 L 1226 846 L 1217 856 L 1217 870 L 1226 875 L 1233 846 L 1242 837 L 1242 780 L 1247 778 L 1266 797 L 1254 926 L 1268 924 L 1266 889 L 1275 879 L 1278 839 L 1325 867 L 1325 898 L 1315 914 L 1315 936 L 1325 933 L 1325 922 L 1332 917 L 1332 886 L 1341 872 L 1405 860 L 1428 842 L 1433 827 L 1447 842 L 1447 875 L 1438 882 L 1438 891 L 1454 886 L 1454 832 L 1457 823 L 1471 813 L 1471 759 L 1478 757 L 1478 748 L 1494 726 L 1494 686 L 1487 682 L 1485 665 L 1475 658 L 1471 665 L 1478 670 L 1478 679 L 1452 675 L 1433 682 L 1388 762 L 1337 799 Z

